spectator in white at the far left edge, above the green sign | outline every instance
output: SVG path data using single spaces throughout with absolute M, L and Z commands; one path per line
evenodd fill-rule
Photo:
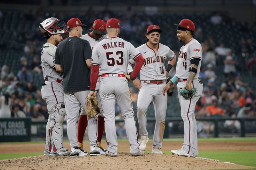
M 10 118 L 12 110 L 12 101 L 9 93 L 0 97 L 0 118 Z

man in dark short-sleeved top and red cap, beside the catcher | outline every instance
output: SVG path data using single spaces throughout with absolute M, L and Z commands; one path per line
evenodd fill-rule
M 78 18 L 68 20 L 69 37 L 62 41 L 56 49 L 55 66 L 57 71 L 64 73 L 64 101 L 67 109 L 67 132 L 70 141 L 70 157 L 85 156 L 88 153 L 79 147 L 77 141 L 76 121 L 81 105 L 86 109 L 86 96 L 90 90 L 92 48 L 88 41 L 81 39 L 85 26 Z M 90 141 L 90 155 L 105 154 L 97 142 L 97 123 L 93 117 L 88 124 L 93 131 Z

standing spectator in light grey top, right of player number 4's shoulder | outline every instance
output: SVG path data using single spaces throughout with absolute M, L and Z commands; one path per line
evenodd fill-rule
M 224 73 L 226 76 L 233 76 L 236 72 L 236 61 L 233 59 L 231 54 L 231 50 L 229 49 L 226 59 L 224 60 Z

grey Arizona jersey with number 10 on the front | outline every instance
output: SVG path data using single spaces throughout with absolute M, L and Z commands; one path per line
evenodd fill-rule
M 166 79 L 164 62 L 174 59 L 174 52 L 161 43 L 158 43 L 157 54 L 148 47 L 147 43 L 137 48 L 143 55 L 144 64 L 140 70 L 140 80 L 164 80 Z M 130 64 L 134 64 L 133 61 Z

